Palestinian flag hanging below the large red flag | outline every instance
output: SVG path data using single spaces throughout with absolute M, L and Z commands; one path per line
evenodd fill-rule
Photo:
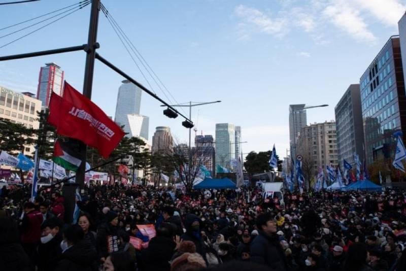
M 76 172 L 82 160 L 79 153 L 75 152 L 69 142 L 55 141 L 53 161 L 66 170 Z

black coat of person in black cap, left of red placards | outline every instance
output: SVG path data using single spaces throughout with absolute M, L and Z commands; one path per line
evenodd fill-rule
M 97 251 L 100 257 L 106 258 L 109 253 L 118 251 L 118 228 L 104 223 L 97 229 Z

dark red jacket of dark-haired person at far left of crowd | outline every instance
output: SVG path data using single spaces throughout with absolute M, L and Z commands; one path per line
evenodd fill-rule
M 43 216 L 33 210 L 24 215 L 21 230 L 21 243 L 36 243 L 41 240 L 41 224 Z

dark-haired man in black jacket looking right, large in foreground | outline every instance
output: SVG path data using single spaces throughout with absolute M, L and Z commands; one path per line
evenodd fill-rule
M 258 215 L 256 226 L 259 235 L 251 244 L 251 261 L 267 265 L 270 270 L 287 270 L 285 254 L 276 234 L 277 225 L 271 213 Z

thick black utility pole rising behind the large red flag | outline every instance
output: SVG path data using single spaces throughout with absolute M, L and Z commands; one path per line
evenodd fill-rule
M 92 96 L 92 84 L 93 84 L 93 71 L 94 71 L 94 58 L 96 54 L 97 44 L 97 24 L 98 15 L 100 11 L 100 0 L 92 0 L 92 6 L 90 11 L 89 22 L 89 35 L 87 39 L 87 54 L 85 65 L 85 77 L 83 81 L 83 95 L 89 99 Z M 77 172 L 76 182 L 79 184 L 81 193 L 84 192 L 85 186 L 85 166 L 86 166 L 86 144 L 80 142 L 80 155 L 82 163 L 80 164 Z

